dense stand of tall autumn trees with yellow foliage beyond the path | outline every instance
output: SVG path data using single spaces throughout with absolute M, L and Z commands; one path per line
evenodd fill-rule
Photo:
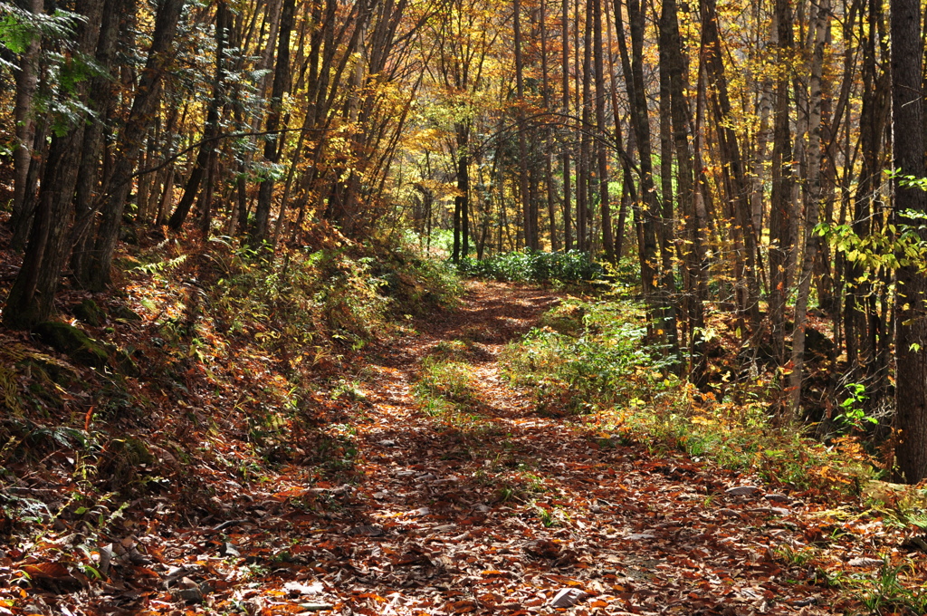
M 0 7 L 11 330 L 193 253 L 227 284 L 560 251 L 636 280 L 667 374 L 768 380 L 823 436 L 849 400 L 927 474 L 917 3 Z

